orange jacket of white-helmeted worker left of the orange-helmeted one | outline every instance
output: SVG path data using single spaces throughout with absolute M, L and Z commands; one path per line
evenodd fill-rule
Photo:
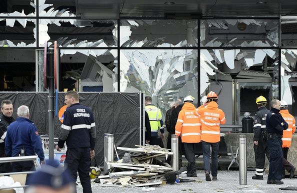
M 181 135 L 181 141 L 187 143 L 200 142 L 200 118 L 195 106 L 185 102 L 178 113 L 175 134 Z

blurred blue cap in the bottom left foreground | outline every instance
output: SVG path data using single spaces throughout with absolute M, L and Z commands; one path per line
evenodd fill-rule
M 43 185 L 59 189 L 65 185 L 74 184 L 67 169 L 61 167 L 58 160 L 46 160 L 46 164 L 35 173 L 30 174 L 27 185 Z

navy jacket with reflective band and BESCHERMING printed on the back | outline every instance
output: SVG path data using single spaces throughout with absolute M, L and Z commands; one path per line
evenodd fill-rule
M 61 148 L 66 141 L 67 148 L 95 147 L 96 128 L 91 109 L 80 103 L 66 108 L 61 125 L 58 146 Z

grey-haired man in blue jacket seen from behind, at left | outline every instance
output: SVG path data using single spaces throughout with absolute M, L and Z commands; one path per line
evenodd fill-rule
M 5 138 L 5 153 L 9 157 L 35 155 L 44 164 L 44 154 L 36 125 L 29 119 L 29 108 L 21 105 L 17 108 L 18 118 L 9 124 Z M 34 170 L 33 161 L 11 163 L 12 172 Z

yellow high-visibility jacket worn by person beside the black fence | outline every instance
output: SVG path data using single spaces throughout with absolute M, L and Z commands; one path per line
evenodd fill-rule
M 161 110 L 153 104 L 147 104 L 145 106 L 145 111 L 147 112 L 149 117 L 151 132 L 157 132 L 158 128 L 160 128 L 160 130 L 163 129 Z M 154 136 L 153 133 L 152 136 Z

